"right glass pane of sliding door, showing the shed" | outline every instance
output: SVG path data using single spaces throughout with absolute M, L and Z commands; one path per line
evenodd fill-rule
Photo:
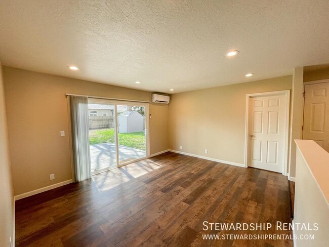
M 117 105 L 119 164 L 146 157 L 145 107 Z

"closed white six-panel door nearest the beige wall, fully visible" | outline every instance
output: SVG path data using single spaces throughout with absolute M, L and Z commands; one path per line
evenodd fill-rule
M 248 117 L 248 166 L 283 172 L 287 96 L 251 97 Z

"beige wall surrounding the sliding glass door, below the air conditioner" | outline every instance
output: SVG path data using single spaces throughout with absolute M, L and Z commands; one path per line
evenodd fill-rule
M 66 93 L 150 101 L 151 93 L 3 67 L 15 195 L 71 179 Z M 150 104 L 150 153 L 168 149 L 168 105 Z M 64 130 L 65 137 L 60 136 Z M 49 180 L 49 174 L 55 180 Z

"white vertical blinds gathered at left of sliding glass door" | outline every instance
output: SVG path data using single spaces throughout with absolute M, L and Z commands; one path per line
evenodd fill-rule
M 91 178 L 88 98 L 70 96 L 75 182 Z

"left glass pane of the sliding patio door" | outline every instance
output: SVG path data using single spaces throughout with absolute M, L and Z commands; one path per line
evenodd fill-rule
M 89 103 L 89 144 L 92 174 L 116 168 L 114 104 Z

